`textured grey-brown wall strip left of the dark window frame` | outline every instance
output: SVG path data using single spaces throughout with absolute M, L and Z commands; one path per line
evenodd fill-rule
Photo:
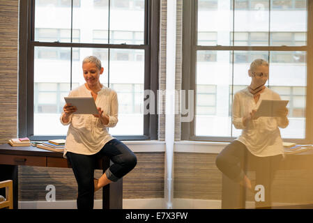
M 0 1 L 0 144 L 17 137 L 18 2 Z

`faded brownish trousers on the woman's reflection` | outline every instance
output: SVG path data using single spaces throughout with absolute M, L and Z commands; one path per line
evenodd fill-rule
M 271 185 L 282 157 L 282 155 L 257 157 L 252 155 L 244 144 L 235 140 L 217 155 L 215 164 L 225 176 L 235 182 L 243 180 L 247 169 L 254 169 L 256 171 L 255 185 L 263 185 L 265 192 L 264 201 L 255 200 L 255 206 L 256 208 L 269 208 L 271 206 Z M 255 192 L 254 188 L 252 191 Z M 236 196 L 236 194 L 234 195 Z

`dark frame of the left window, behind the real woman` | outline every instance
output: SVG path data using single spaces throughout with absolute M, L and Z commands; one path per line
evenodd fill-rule
M 73 3 L 73 0 L 72 0 Z M 110 1 L 109 1 L 110 3 Z M 102 49 L 144 49 L 144 89 L 158 90 L 158 50 L 160 0 L 145 0 L 144 44 L 121 45 L 99 43 L 46 43 L 34 41 L 35 0 L 20 1 L 20 52 L 18 80 L 18 137 L 29 137 L 31 140 L 47 141 L 49 139 L 65 139 L 66 135 L 33 135 L 33 62 L 35 47 L 90 47 Z M 72 61 L 71 61 L 72 64 Z M 72 72 L 72 69 L 71 69 Z M 144 95 L 144 94 L 143 94 Z M 143 101 L 146 100 L 143 98 Z M 31 105 L 31 106 L 30 106 Z M 144 114 L 143 135 L 114 136 L 119 140 L 155 140 L 158 139 L 158 114 Z

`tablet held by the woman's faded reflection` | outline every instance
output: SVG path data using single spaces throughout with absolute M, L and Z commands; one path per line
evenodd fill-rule
M 261 104 L 254 115 L 257 117 L 277 117 L 277 112 L 284 109 L 288 102 L 289 100 L 261 100 Z

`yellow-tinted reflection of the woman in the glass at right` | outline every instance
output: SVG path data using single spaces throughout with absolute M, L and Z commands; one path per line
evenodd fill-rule
M 280 100 L 280 95 L 268 89 L 268 63 L 256 59 L 248 71 L 251 84 L 234 95 L 233 123 L 242 129 L 241 136 L 224 148 L 216 158 L 217 168 L 227 177 L 254 191 L 254 185 L 263 185 L 265 201 L 257 206 L 270 206 L 270 184 L 284 154 L 280 128 L 289 124 L 288 109 L 282 109 L 276 117 L 257 117 L 255 112 L 261 100 Z M 250 180 L 243 169 L 245 157 L 257 164 L 256 181 Z

